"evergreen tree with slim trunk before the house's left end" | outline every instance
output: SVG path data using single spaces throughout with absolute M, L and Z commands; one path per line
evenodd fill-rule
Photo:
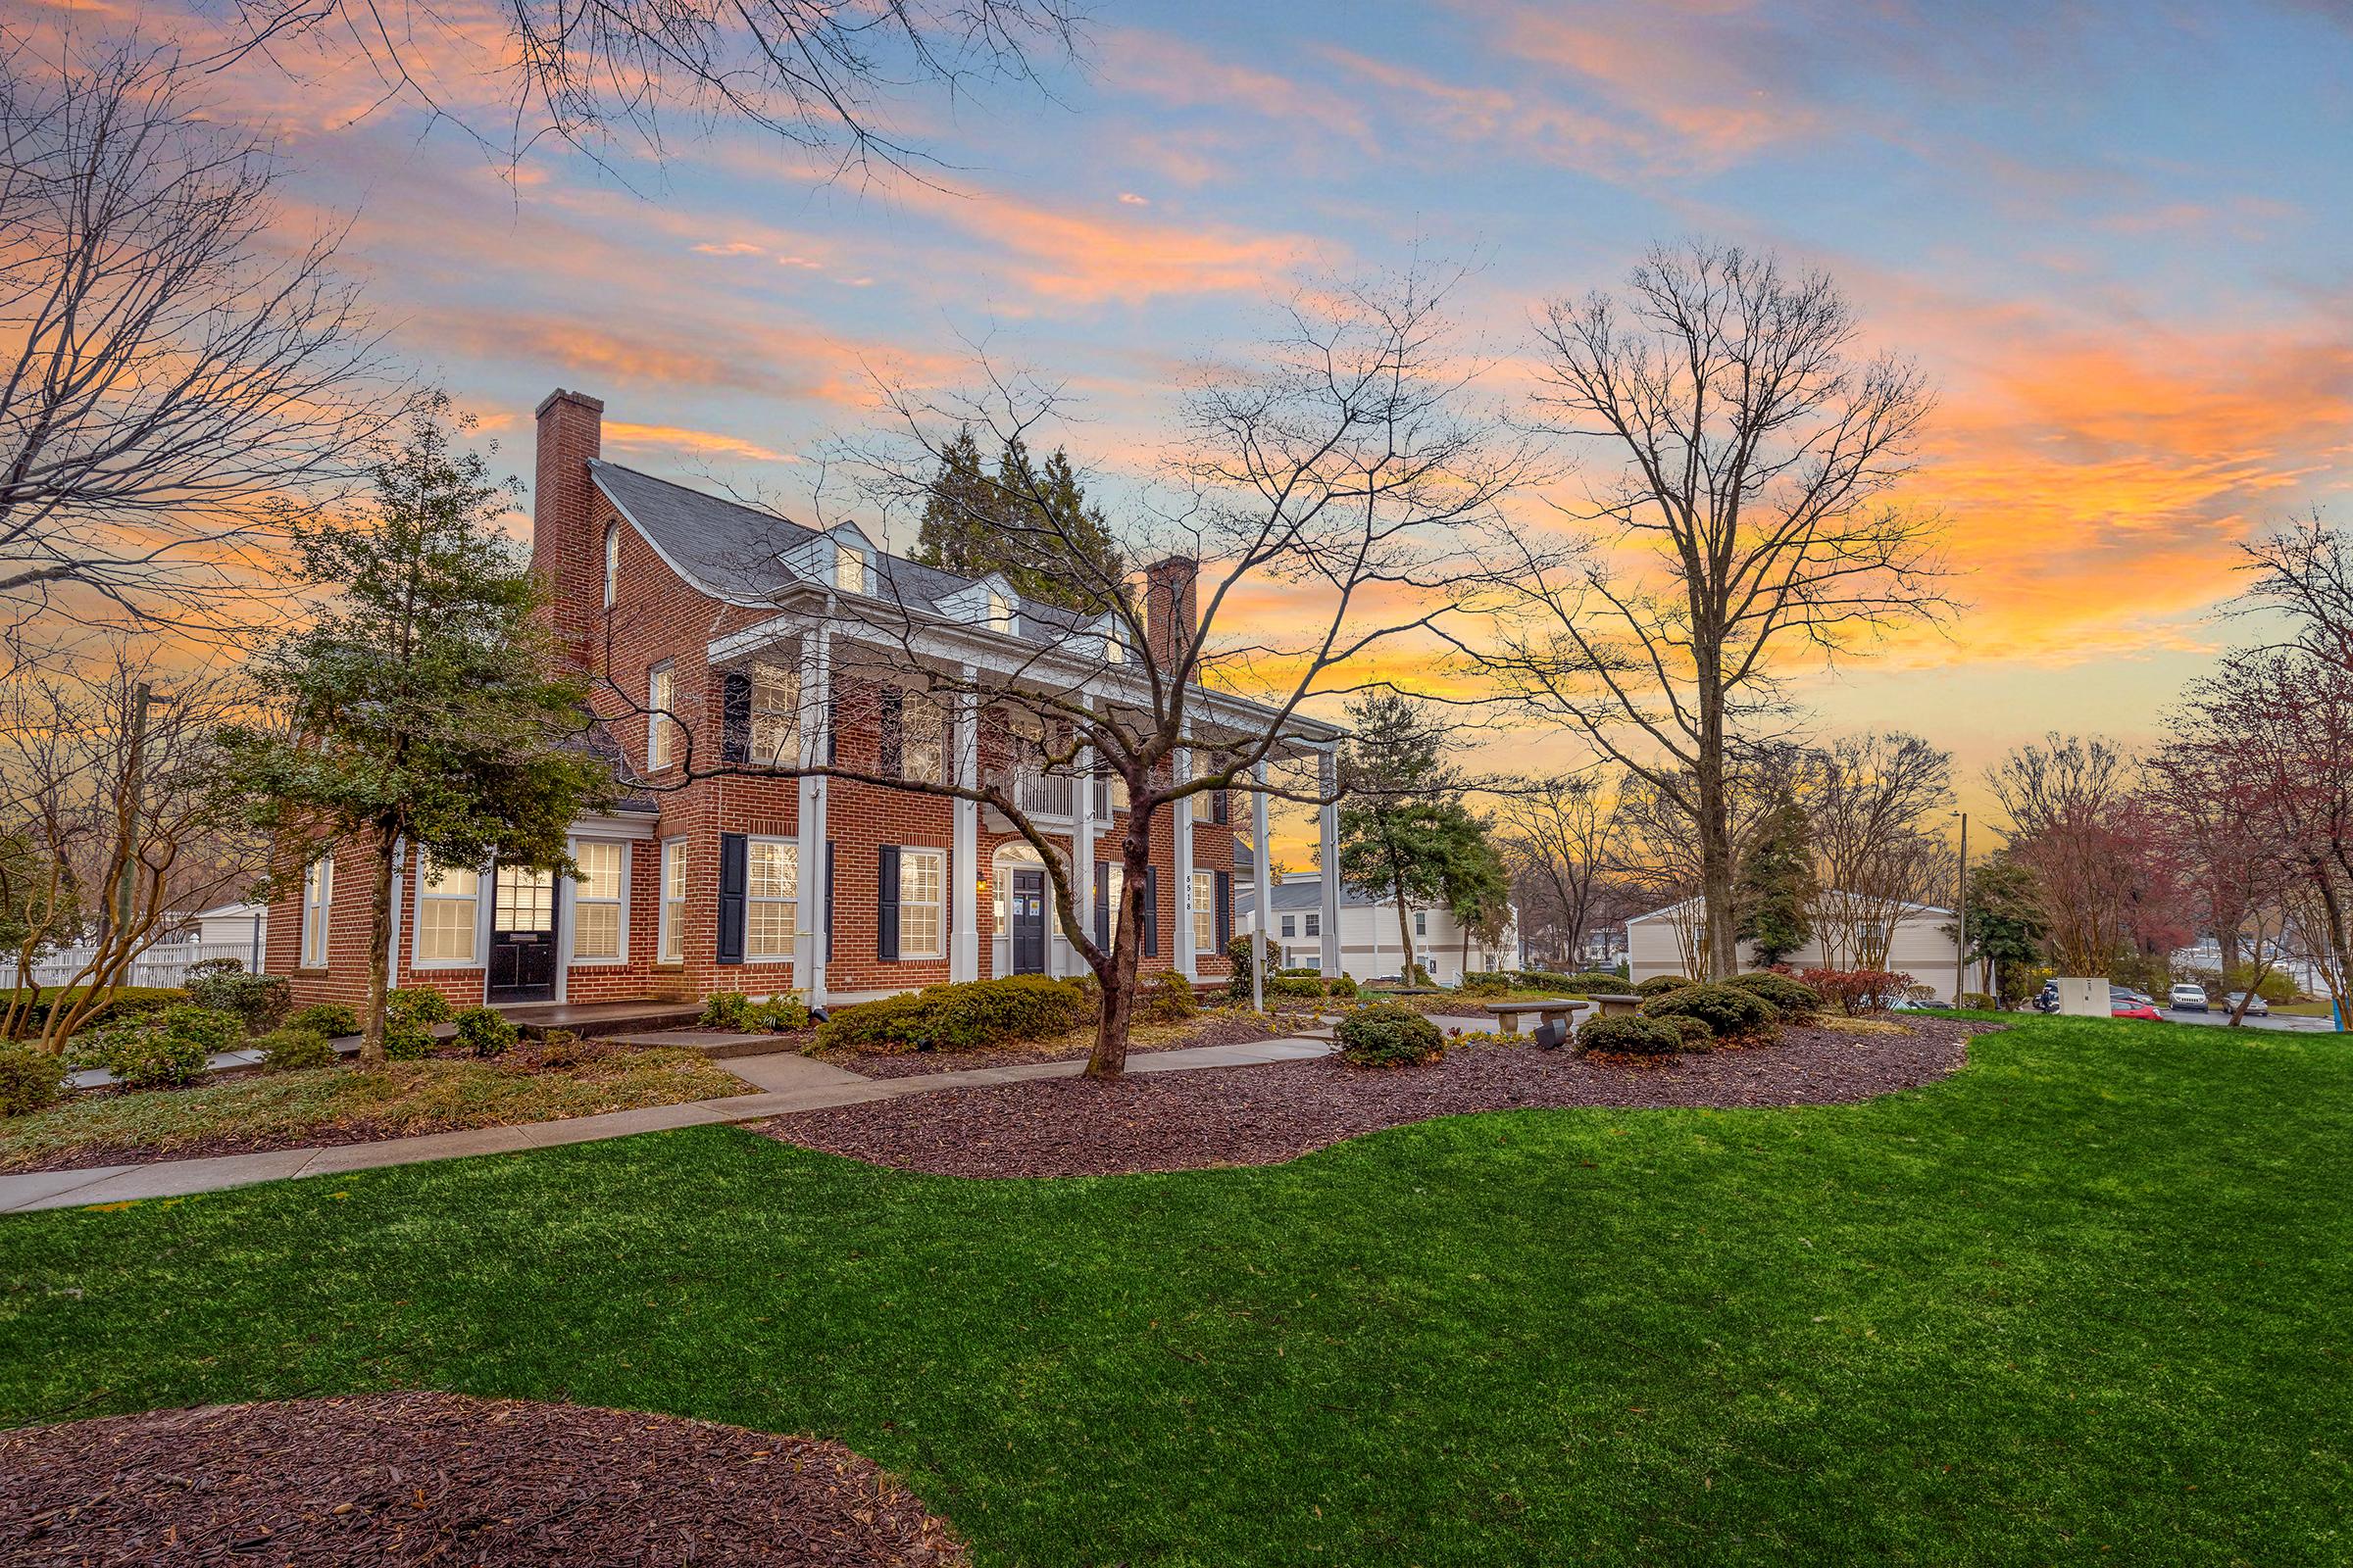
M 614 792 L 574 745 L 586 684 L 562 672 L 529 564 L 499 531 L 513 482 L 454 449 L 447 397 L 372 480 L 369 515 L 296 534 L 304 576 L 341 592 L 254 658 L 285 724 L 221 731 L 256 825 L 376 858 L 362 1067 L 384 1063 L 395 851 L 569 870 L 572 818 Z

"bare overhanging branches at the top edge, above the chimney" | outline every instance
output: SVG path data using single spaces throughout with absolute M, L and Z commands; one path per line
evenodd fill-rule
M 294 47 L 360 63 L 438 115 L 473 96 L 438 73 L 482 61 L 473 16 L 421 0 L 238 0 L 235 54 L 294 63 Z M 835 169 L 922 169 L 936 158 L 901 141 L 887 103 L 908 87 L 951 101 L 981 82 L 1045 87 L 1054 59 L 1078 54 L 1073 0 L 508 0 L 504 38 L 471 75 L 508 99 L 511 155 L 544 134 L 593 148 L 616 132 L 664 150 L 671 115 L 755 125 Z M 468 127 L 478 139 L 487 127 Z

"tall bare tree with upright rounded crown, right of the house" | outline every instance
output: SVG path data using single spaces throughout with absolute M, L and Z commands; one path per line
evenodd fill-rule
M 1553 301 L 1546 423 L 1614 480 L 1577 512 L 1593 548 L 1529 545 L 1478 663 L 1581 733 L 1685 823 L 1701 964 L 1739 969 L 1732 755 L 1772 733 L 1786 656 L 1835 658 L 1939 614 L 1941 524 L 1889 501 L 1929 411 L 1920 374 L 1857 357 L 1821 273 L 1734 247 L 1661 247 L 1621 299 Z M 1624 571 L 1626 555 L 1652 559 Z

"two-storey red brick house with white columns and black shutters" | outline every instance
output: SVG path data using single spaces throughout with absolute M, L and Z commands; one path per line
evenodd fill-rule
M 1085 973 L 1047 907 L 1035 849 L 995 809 L 852 778 L 774 778 L 758 764 L 1007 778 L 1106 940 L 1118 849 L 1096 844 L 1120 825 L 1125 790 L 1024 769 L 1024 715 L 936 696 L 925 670 L 953 672 L 960 691 L 998 672 L 1108 701 L 1134 679 L 1115 623 L 1028 602 L 1002 578 L 892 557 L 849 522 L 800 527 L 607 463 L 602 407 L 567 390 L 539 404 L 532 564 L 565 654 L 605 677 L 595 743 L 628 797 L 572 825 L 579 877 L 402 853 L 393 983 L 456 1006 L 713 992 L 854 1001 L 941 980 Z M 1146 604 L 1148 635 L 1167 646 L 1195 616 L 1193 564 L 1151 567 Z M 1200 733 L 1221 719 L 1264 733 L 1264 710 L 1224 693 L 1195 693 L 1188 710 Z M 1337 741 L 1337 729 L 1297 719 L 1285 752 L 1315 757 L 1329 778 Z M 1193 797 L 1155 823 L 1148 971 L 1226 973 L 1245 802 L 1264 842 L 1257 795 Z M 1325 842 L 1332 818 L 1325 809 Z M 365 997 L 358 889 L 369 872 L 372 856 L 346 844 L 275 893 L 268 971 L 294 978 L 299 1004 Z

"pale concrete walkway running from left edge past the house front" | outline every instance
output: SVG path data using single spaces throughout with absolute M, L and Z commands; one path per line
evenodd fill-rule
M 1186 1051 L 1148 1051 L 1129 1058 L 1129 1072 L 1191 1072 L 1200 1067 L 1254 1067 L 1292 1063 L 1332 1051 L 1327 1039 L 1254 1039 L 1242 1046 L 1191 1046 Z M 725 1100 L 687 1100 L 685 1105 L 649 1105 L 616 1110 L 602 1117 L 567 1121 L 527 1121 L 522 1126 L 478 1126 L 424 1138 L 386 1138 L 384 1143 L 344 1143 L 318 1150 L 268 1150 L 264 1154 L 216 1154 L 212 1159 L 158 1159 L 141 1166 L 89 1166 L 82 1171 L 35 1171 L 0 1175 L 0 1213 L 35 1208 L 82 1208 L 87 1204 L 129 1204 L 139 1199 L 186 1197 L 275 1182 L 292 1175 L 336 1175 L 379 1166 L 414 1166 L 428 1159 L 468 1154 L 518 1154 L 553 1150 L 565 1143 L 600 1143 L 635 1133 L 666 1133 L 680 1126 L 722 1126 L 762 1121 L 795 1110 L 896 1100 L 941 1088 L 984 1088 L 1028 1079 L 1066 1079 L 1085 1070 L 1085 1060 L 1024 1063 L 1019 1067 L 972 1067 L 967 1072 L 925 1072 L 904 1079 L 868 1079 L 807 1056 L 784 1051 L 739 1056 L 720 1063 L 760 1093 Z

